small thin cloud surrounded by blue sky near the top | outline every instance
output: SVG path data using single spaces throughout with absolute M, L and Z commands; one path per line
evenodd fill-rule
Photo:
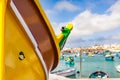
M 56 5 L 55 5 L 55 9 L 56 10 L 67 10 L 67 11 L 75 11 L 75 10 L 78 10 L 79 8 L 67 1 L 61 1 L 61 2 L 58 2 Z

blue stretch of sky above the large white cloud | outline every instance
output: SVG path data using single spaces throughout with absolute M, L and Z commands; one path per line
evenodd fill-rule
M 91 10 L 92 13 L 103 14 L 115 1 L 116 0 L 40 0 L 49 19 L 52 22 L 58 23 L 72 20 L 84 10 Z M 57 8 L 57 6 L 62 3 L 69 3 L 74 5 L 75 8 L 73 11 L 65 7 Z

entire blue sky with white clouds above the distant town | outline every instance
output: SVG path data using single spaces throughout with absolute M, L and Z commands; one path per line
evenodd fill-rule
M 120 0 L 40 0 L 55 34 L 73 24 L 65 47 L 120 43 Z

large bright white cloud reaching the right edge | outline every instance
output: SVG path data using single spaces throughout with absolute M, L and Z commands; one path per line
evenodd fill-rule
M 111 14 L 108 14 L 108 11 Z M 72 37 L 94 34 L 120 27 L 120 1 L 111 6 L 105 14 L 95 14 L 86 10 L 71 21 L 74 24 Z

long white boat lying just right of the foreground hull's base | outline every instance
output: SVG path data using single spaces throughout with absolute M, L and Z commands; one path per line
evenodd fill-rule
M 75 73 L 76 73 L 75 68 L 67 68 L 67 69 L 62 69 L 62 70 L 51 72 L 51 74 L 57 74 L 61 76 L 71 76 L 71 75 L 75 75 Z

